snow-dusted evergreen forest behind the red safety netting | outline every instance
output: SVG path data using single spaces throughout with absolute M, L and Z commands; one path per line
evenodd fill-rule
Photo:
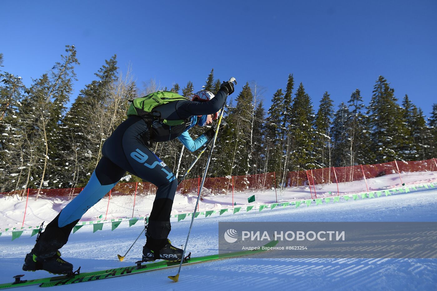
M 156 90 L 190 96 L 201 86 L 215 94 L 221 83 L 212 69 L 205 84 L 196 87 L 191 81 L 183 88 L 178 83 L 164 87 L 152 79 L 139 86 L 129 69 L 119 72 L 114 55 L 95 80 L 72 96 L 77 65 L 76 49 L 67 45 L 59 62 L 26 87 L 21 77 L 3 70 L 0 53 L 0 192 L 83 187 L 101 158 L 103 143 L 125 120 L 128 100 Z M 373 86 L 370 104 L 364 104 L 357 89 L 338 108 L 328 92 L 313 96 L 320 100 L 313 107 L 292 74 L 284 76 L 284 88 L 273 94 L 267 111 L 265 88 L 254 81 L 241 83 L 228 99 L 229 127 L 219 133 L 209 177 L 276 172 L 281 181 L 288 171 L 437 157 L 437 104 L 426 108 L 431 117 L 425 120 L 407 95 L 395 97 L 383 76 Z M 203 131 L 194 128 L 190 134 L 196 138 Z M 197 156 L 177 140 L 156 143 L 152 150 L 178 175 Z M 206 156 L 187 178 L 203 174 Z

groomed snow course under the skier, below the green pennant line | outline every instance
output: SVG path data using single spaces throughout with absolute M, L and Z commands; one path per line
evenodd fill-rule
M 375 199 L 329 203 L 310 207 L 275 208 L 236 215 L 196 219 L 187 249 L 193 256 L 216 253 L 218 222 L 224 221 L 436 221 L 437 191 L 382 196 Z M 174 245 L 184 243 L 190 220 L 173 223 L 170 239 Z M 91 233 L 83 227 L 70 236 L 61 249 L 62 257 L 93 271 L 133 265 L 142 253 L 144 237 L 124 255 L 139 235 L 143 225 L 104 229 Z M 25 254 L 36 236 L 10 241 L 0 237 L 0 282 L 26 274 L 24 279 L 46 277 L 45 272 L 23 272 Z M 182 267 L 179 282 L 166 276 L 177 273 L 177 267 L 146 274 L 115 277 L 101 281 L 55 287 L 59 290 L 437 290 L 437 260 L 433 259 L 257 259 L 236 258 Z M 24 290 L 24 289 L 23 289 Z M 42 290 L 38 286 L 25 290 Z

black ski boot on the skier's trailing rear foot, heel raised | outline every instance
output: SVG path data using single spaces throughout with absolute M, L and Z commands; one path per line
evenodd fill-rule
M 41 258 L 35 253 L 28 253 L 24 259 L 24 271 L 45 270 L 52 274 L 69 275 L 73 274 L 73 265 L 61 259 L 61 253 L 57 251 L 54 256 Z

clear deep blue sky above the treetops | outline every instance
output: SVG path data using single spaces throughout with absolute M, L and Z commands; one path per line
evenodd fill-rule
M 155 78 L 195 90 L 211 68 L 267 88 L 266 110 L 289 73 L 315 111 L 325 91 L 337 105 L 361 90 L 368 104 L 384 76 L 427 117 L 437 103 L 437 1 L 2 1 L 2 69 L 29 85 L 73 44 L 74 99 L 105 59 L 132 65 L 139 86 Z M 234 95 L 235 97 L 236 95 Z

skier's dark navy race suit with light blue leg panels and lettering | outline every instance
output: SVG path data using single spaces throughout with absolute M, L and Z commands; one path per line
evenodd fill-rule
M 227 90 L 222 88 L 207 102 L 180 100 L 155 109 L 160 111 L 162 119 L 187 120 L 193 115 L 218 112 L 226 96 Z M 100 201 L 126 171 L 158 187 L 149 217 L 146 245 L 153 250 L 163 247 L 171 229 L 170 212 L 178 183 L 170 168 L 146 144 L 175 139 L 185 130 L 180 129 L 156 122 L 150 130 L 139 116 L 130 116 L 118 125 L 104 143 L 102 158 L 87 186 L 47 225 L 32 251 L 42 258 L 53 256 L 67 243 L 71 230 L 83 214 Z

